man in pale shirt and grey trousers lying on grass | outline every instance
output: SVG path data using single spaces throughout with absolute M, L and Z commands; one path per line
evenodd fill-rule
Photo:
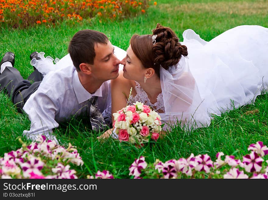
M 11 96 L 18 110 L 28 114 L 31 126 L 23 135 L 31 140 L 45 135 L 57 141 L 52 129 L 58 127 L 59 122 L 82 114 L 89 116 L 93 130 L 103 131 L 103 125 L 109 126 L 109 80 L 118 77 L 120 64 L 114 48 L 104 33 L 80 30 L 72 37 L 68 48 L 72 63 L 49 72 L 44 79 L 39 75 L 42 78 L 33 84 L 22 78 L 14 68 L 15 55 L 7 52 L 0 63 L 0 90 L 4 89 Z M 41 59 L 38 52 L 30 58 L 36 59 L 37 69 L 48 62 L 48 58 Z

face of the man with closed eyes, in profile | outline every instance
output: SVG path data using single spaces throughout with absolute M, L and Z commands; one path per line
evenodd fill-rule
M 97 80 L 107 81 L 118 77 L 120 60 L 115 56 L 114 49 L 110 41 L 108 44 L 95 44 L 95 58 L 91 71 Z

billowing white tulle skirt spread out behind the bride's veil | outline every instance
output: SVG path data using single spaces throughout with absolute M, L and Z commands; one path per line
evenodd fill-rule
M 209 42 L 193 30 L 183 32 L 189 69 L 207 112 L 252 104 L 268 85 L 268 28 L 237 26 Z

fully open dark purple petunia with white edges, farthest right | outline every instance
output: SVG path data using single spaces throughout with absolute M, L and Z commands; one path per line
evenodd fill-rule
M 254 151 L 243 156 L 246 172 L 259 172 L 262 169 L 263 159 Z

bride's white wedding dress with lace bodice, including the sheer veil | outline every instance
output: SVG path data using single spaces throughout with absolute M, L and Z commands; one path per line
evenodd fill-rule
M 210 125 L 212 114 L 251 104 L 268 84 L 268 28 L 237 26 L 209 42 L 193 30 L 183 32 L 188 56 L 169 70 L 161 68 L 162 95 L 154 106 L 168 125 L 182 121 L 188 128 Z M 137 83 L 137 95 L 152 106 Z M 162 98 L 161 98 L 162 96 Z

